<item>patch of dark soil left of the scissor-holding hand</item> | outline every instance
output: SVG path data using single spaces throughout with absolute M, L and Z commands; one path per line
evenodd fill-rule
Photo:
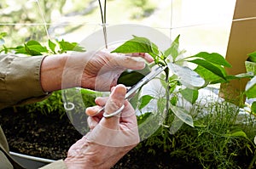
M 66 116 L 50 118 L 42 114 L 0 112 L 0 123 L 9 142 L 10 151 L 47 159 L 63 159 L 67 150 L 82 135 L 77 132 Z

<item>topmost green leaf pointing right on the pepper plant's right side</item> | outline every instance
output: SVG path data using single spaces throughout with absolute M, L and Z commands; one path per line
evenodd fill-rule
M 218 53 L 212 53 L 209 54 L 207 52 L 201 52 L 199 54 L 195 54 L 194 56 L 191 56 L 190 58 L 201 58 L 205 59 L 208 62 L 216 65 L 224 65 L 225 67 L 231 67 L 230 63 L 224 59 L 224 57 Z

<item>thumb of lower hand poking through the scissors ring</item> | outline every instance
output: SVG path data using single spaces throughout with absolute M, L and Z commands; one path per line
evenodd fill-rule
M 119 110 L 125 102 L 126 87 L 122 84 L 117 85 L 113 88 L 109 99 L 105 105 L 105 114 L 109 115 Z M 110 129 L 119 128 L 119 115 L 114 115 L 109 118 L 104 118 L 102 122 L 103 127 Z

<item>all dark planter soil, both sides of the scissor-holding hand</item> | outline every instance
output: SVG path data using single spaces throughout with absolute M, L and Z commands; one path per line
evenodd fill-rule
M 0 111 L 0 125 L 11 151 L 52 160 L 66 158 L 69 147 L 82 137 L 67 116 L 60 119 L 57 115 L 51 115 L 49 118 L 5 109 Z M 167 152 L 149 155 L 147 150 L 132 149 L 113 168 L 201 168 L 196 162 L 171 159 Z

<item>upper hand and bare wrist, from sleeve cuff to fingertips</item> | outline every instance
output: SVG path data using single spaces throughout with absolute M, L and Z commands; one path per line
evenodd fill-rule
M 124 55 L 103 51 L 48 56 L 41 65 L 41 86 L 44 92 L 69 87 L 109 91 L 124 70 L 144 68 L 144 61 L 137 61 L 133 56 L 154 61 L 149 54 Z

